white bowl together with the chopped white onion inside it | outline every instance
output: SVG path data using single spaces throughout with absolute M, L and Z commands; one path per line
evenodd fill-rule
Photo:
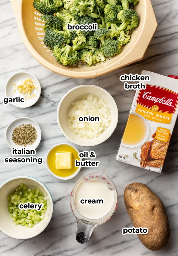
M 79 117 L 99 116 L 99 122 L 80 122 Z M 60 100 L 57 122 L 63 135 L 79 146 L 95 146 L 106 141 L 116 129 L 118 108 L 106 90 L 81 85 L 68 91 Z

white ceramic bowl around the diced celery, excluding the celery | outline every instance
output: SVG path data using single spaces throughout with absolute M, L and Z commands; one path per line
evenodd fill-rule
M 33 228 L 26 229 L 21 225 L 15 226 L 15 223 L 8 211 L 7 197 L 16 187 L 19 186 L 20 183 L 24 183 L 28 188 L 38 188 L 47 198 L 48 208 L 45 212 L 45 217 L 37 225 L 34 225 Z M 8 179 L 0 186 L 0 205 L 0 230 L 7 236 L 16 239 L 28 239 L 40 234 L 48 226 L 53 214 L 53 200 L 49 190 L 42 182 L 28 176 L 18 176 Z

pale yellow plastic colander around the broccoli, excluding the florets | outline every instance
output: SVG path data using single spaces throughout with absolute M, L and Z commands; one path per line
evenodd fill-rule
M 33 0 L 10 0 L 26 48 L 43 66 L 53 72 L 73 78 L 91 78 L 107 74 L 144 57 L 145 51 L 156 29 L 157 21 L 150 0 L 140 0 L 135 6 L 140 24 L 132 32 L 130 42 L 123 47 L 121 53 L 106 61 L 87 67 L 79 61 L 73 66 L 63 66 L 53 57 L 52 51 L 43 42 L 44 22 L 41 14 L 33 7 Z

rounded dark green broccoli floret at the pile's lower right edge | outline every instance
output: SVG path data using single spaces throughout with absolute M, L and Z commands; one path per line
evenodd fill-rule
M 102 46 L 104 56 L 105 57 L 112 57 L 116 54 L 121 52 L 121 44 L 119 40 L 114 40 L 111 38 L 107 38 Z

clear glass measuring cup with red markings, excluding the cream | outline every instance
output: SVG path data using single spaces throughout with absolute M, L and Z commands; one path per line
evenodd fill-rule
M 76 207 L 75 192 L 76 192 L 78 185 L 81 182 L 90 182 L 91 180 L 100 180 L 107 185 L 109 190 L 114 191 L 114 202 L 113 202 L 112 207 L 107 212 L 107 214 L 105 214 L 103 217 L 101 217 L 99 219 L 89 219 L 89 218 L 82 216 Z M 76 232 L 77 242 L 79 242 L 79 243 L 88 242 L 94 228 L 103 224 L 104 222 L 106 222 L 107 220 L 109 220 L 112 217 L 112 215 L 114 214 L 114 212 L 116 210 L 117 202 L 118 202 L 117 188 L 116 188 L 115 184 L 113 183 L 113 181 L 107 176 L 104 169 L 101 169 L 99 172 L 87 174 L 87 175 L 83 176 L 82 178 L 80 178 L 76 182 L 76 184 L 71 192 L 71 198 L 70 198 L 71 209 L 72 209 L 72 212 L 77 220 L 77 232 Z

